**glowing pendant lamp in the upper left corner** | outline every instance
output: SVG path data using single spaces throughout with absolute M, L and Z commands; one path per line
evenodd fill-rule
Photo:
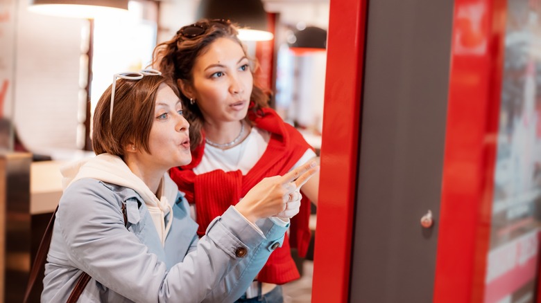
M 128 0 L 31 0 L 31 12 L 60 17 L 94 19 L 128 12 Z

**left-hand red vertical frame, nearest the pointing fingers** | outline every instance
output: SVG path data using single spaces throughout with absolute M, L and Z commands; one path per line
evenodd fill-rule
M 312 302 L 348 302 L 366 0 L 330 2 Z

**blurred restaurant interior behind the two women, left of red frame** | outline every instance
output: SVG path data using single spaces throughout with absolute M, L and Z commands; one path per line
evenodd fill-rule
M 9 159 L 2 162 L 0 180 L 7 203 L 0 217 L 6 222 L 0 228 L 3 302 L 22 300 L 40 232 L 62 194 L 59 167 L 94 155 L 91 118 L 112 75 L 146 68 L 157 43 L 198 17 L 212 17 L 201 11 L 205 0 L 78 1 L 92 2 L 111 8 L 94 12 L 86 6 L 80 12 L 63 10 L 70 1 L 0 3 L 0 150 Z M 245 2 L 227 1 L 237 14 L 228 18 L 272 34 L 264 41 L 243 38 L 259 62 L 259 84 L 273 91 L 272 106 L 318 150 L 329 1 L 252 1 L 261 6 L 259 12 L 247 11 L 252 8 Z M 250 15 L 256 17 L 246 18 Z M 305 28 L 318 32 L 302 37 Z M 315 212 L 314 207 L 313 225 Z M 310 288 L 309 281 L 304 302 Z

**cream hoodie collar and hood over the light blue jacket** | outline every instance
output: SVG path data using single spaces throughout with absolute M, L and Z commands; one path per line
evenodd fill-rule
M 165 237 L 171 229 L 173 220 L 165 225 L 165 217 L 172 212 L 171 205 L 175 203 L 178 194 L 178 187 L 171 180 L 169 174 L 164 174 L 158 187 L 158 196 L 135 174 L 119 156 L 111 154 L 100 154 L 94 158 L 79 160 L 65 165 L 60 169 L 62 173 L 62 188 L 65 190 L 71 183 L 82 178 L 94 178 L 106 183 L 112 183 L 135 190 L 143 199 L 151 214 L 152 221 L 157 233 L 165 244 Z

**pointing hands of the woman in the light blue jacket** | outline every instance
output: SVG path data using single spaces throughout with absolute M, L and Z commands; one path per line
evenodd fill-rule
M 250 222 L 266 217 L 290 218 L 299 212 L 300 187 L 319 171 L 316 161 L 293 169 L 284 176 L 264 178 L 235 208 Z

